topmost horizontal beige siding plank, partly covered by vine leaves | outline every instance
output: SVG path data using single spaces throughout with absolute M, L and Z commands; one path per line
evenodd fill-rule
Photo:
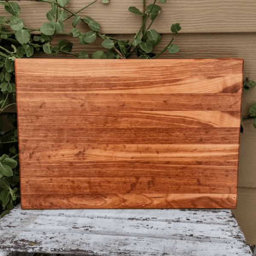
M 77 11 L 91 1 L 71 0 L 70 9 Z M 26 26 L 40 27 L 47 22 L 45 14 L 50 9 L 47 3 L 18 2 L 21 18 Z M 147 1 L 148 4 L 152 1 Z M 98 1 L 80 14 L 90 16 L 102 25 L 102 33 L 134 33 L 140 28 L 141 17 L 128 12 L 129 6 L 142 10 L 142 1 L 111 0 L 108 5 Z M 162 13 L 152 28 L 160 33 L 169 33 L 172 23 L 179 22 L 182 33 L 207 32 L 256 32 L 256 2 L 254 0 L 168 0 Z M 3 7 L 0 16 L 4 15 Z M 67 30 L 72 28 L 72 20 L 67 21 Z M 164 25 L 163 25 L 164 24 Z M 83 24 L 78 28 L 84 29 Z

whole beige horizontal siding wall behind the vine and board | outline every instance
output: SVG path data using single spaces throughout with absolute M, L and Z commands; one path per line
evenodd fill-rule
M 70 8 L 78 10 L 91 0 L 71 0 Z M 45 13 L 50 9 L 47 3 L 19 1 L 22 7 L 21 18 L 26 26 L 40 27 L 47 22 Z M 151 1 L 147 1 L 151 3 Z M 119 38 L 132 40 L 134 32 L 140 27 L 141 17 L 128 12 L 129 6 L 142 9 L 142 1 L 111 0 L 104 5 L 99 0 L 81 12 L 82 16 L 91 16 L 102 25 L 102 33 L 119 34 Z M 256 80 L 256 1 L 255 0 L 168 0 L 161 5 L 163 11 L 157 18 L 154 28 L 164 33 L 162 41 L 156 47 L 158 52 L 170 38 L 170 26 L 179 22 L 182 30 L 175 44 L 180 47 L 176 55 L 164 53 L 161 58 L 244 58 L 244 77 Z M 0 6 L 0 15 L 5 15 Z M 67 21 L 67 31 L 71 28 Z M 79 28 L 85 31 L 83 24 Z M 123 35 L 125 34 L 125 35 Z M 130 34 L 130 35 L 129 35 Z M 53 44 L 60 37 L 56 36 Z M 61 37 L 73 42 L 73 52 L 87 50 L 92 54 L 103 49 L 101 40 L 96 44 L 81 45 L 77 38 Z M 35 56 L 36 57 L 36 56 Z M 39 55 L 50 57 L 51 55 Z M 73 58 L 64 54 L 53 58 Z M 242 116 L 256 102 L 256 88 L 243 93 Z M 247 243 L 256 244 L 256 129 L 251 121 L 244 122 L 244 134 L 241 134 L 238 207 L 233 212 L 243 230 Z

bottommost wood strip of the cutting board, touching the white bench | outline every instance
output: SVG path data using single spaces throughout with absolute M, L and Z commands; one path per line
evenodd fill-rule
M 56 207 L 55 202 L 61 202 Z M 23 194 L 22 209 L 236 208 L 236 194 Z

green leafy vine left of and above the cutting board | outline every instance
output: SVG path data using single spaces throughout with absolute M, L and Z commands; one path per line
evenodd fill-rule
M 31 1 L 31 0 L 30 0 Z M 33 1 L 33 0 L 32 0 Z M 46 13 L 47 22 L 40 28 L 26 26 L 20 18 L 20 6 L 16 2 L 0 0 L 0 8 L 8 15 L 0 17 L 0 114 L 11 105 L 15 105 L 15 58 L 31 58 L 38 53 L 57 55 L 69 54 L 77 58 L 157 58 L 168 50 L 171 54 L 179 51 L 179 47 L 173 44 L 175 36 L 180 31 L 179 23 L 171 26 L 173 33 L 169 43 L 159 52 L 154 52 L 154 47 L 160 43 L 161 35 L 155 29 L 151 29 L 154 20 L 157 19 L 166 0 L 152 0 L 146 5 L 143 0 L 143 9 L 135 6 L 129 7 L 128 11 L 141 16 L 142 24 L 132 41 L 114 38 L 100 32 L 101 25 L 89 16 L 81 16 L 80 13 L 89 8 L 97 0 L 92 1 L 83 8 L 73 11 L 67 5 L 70 0 L 35 0 L 49 4 Z M 108 4 L 109 0 L 101 0 Z M 157 3 L 160 3 L 158 5 Z M 67 20 L 72 19 L 72 29 L 65 29 Z M 87 32 L 81 32 L 77 25 L 82 23 Z M 33 33 L 36 32 L 36 33 Z M 76 38 L 84 49 L 80 52 L 71 52 L 73 44 L 60 39 L 57 44 L 53 43 L 55 35 L 69 35 Z M 102 41 L 102 47 L 89 54 L 87 44 L 95 42 L 96 38 Z M 16 114 L 8 115 L 15 123 Z M 8 133 L 0 135 L 0 213 L 1 217 L 9 212 L 14 205 L 19 203 L 19 163 L 17 145 L 17 125 Z M 15 160 L 16 159 L 16 160 Z

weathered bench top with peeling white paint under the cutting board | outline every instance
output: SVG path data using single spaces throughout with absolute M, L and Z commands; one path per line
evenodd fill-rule
M 86 256 L 249 256 L 229 209 L 15 207 L 0 221 L 0 250 Z

